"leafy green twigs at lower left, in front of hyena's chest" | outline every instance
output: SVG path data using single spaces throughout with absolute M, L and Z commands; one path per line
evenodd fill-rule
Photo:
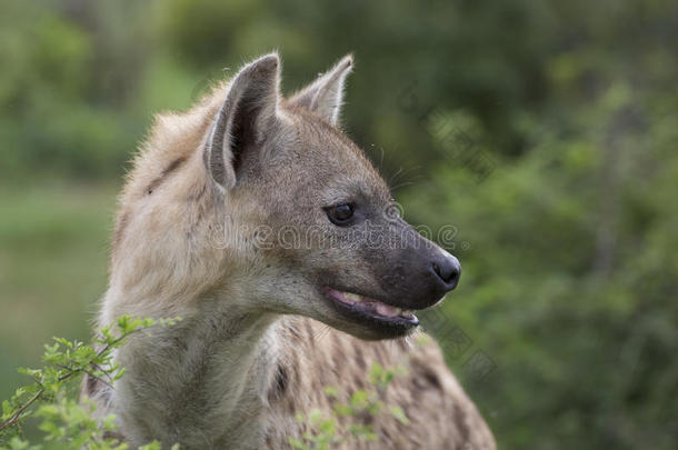
M 109 414 L 100 420 L 94 418 L 96 404 L 79 402 L 73 398 L 74 387 L 83 374 L 112 386 L 124 370 L 113 359 L 113 351 L 136 332 L 151 332 L 151 327 L 173 326 L 179 319 L 141 319 L 121 316 L 114 324 L 100 330 L 96 346 L 79 341 L 53 338 L 53 344 L 44 346 L 41 369 L 20 369 L 33 379 L 33 383 L 20 387 L 16 393 L 2 402 L 0 417 L 0 449 L 40 449 L 31 446 L 23 436 L 24 423 L 39 419 L 39 429 L 46 442 L 58 442 L 71 449 L 124 450 L 108 433 L 117 430 L 116 417 Z M 172 449 L 178 449 L 175 446 Z M 141 447 L 143 450 L 159 450 L 158 442 Z

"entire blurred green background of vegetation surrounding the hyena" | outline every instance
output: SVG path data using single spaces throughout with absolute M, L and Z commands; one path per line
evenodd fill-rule
M 1 397 L 88 339 L 152 113 L 271 49 L 287 92 L 353 52 L 345 127 L 448 232 L 427 324 L 500 447 L 677 448 L 677 43 L 669 0 L 3 0 Z

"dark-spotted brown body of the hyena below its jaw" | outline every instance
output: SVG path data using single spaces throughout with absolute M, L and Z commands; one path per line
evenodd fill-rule
M 450 376 L 432 340 L 359 341 L 306 318 L 289 320 L 286 326 L 286 338 L 296 346 L 281 360 L 295 376 L 288 377 L 285 392 L 271 401 L 271 428 L 266 430 L 269 448 L 287 448 L 290 436 L 313 431 L 307 423 L 300 424 L 295 413 L 307 413 L 309 407 L 329 411 L 332 400 L 323 393 L 325 387 L 339 387 L 347 397 L 359 389 L 372 389 L 368 373 L 375 362 L 387 368 L 405 367 L 405 374 L 396 377 L 383 401 L 400 406 L 410 424 L 403 426 L 381 413 L 372 423 L 378 436 L 376 442 L 350 441 L 337 448 L 495 448 L 487 426 Z M 271 389 L 276 388 L 273 384 Z

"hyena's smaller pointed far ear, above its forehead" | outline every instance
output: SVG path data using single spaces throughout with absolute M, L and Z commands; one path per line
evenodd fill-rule
M 353 68 L 353 56 L 347 54 L 333 68 L 318 77 L 290 99 L 290 103 L 305 107 L 337 124 L 343 102 L 343 82 Z

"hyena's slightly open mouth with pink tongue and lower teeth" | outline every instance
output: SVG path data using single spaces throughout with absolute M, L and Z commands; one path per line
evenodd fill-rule
M 419 319 L 410 310 L 386 304 L 358 293 L 342 292 L 331 288 L 326 288 L 325 292 L 327 297 L 333 300 L 335 304 L 353 317 L 406 328 L 413 328 L 419 324 Z

